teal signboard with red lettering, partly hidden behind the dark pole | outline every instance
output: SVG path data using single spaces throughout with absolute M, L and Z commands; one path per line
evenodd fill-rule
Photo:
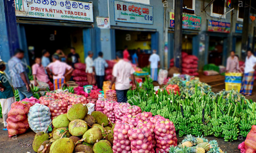
M 182 15 L 182 29 L 201 30 L 201 17 L 188 14 Z M 174 28 L 174 13 L 170 12 L 170 27 Z

